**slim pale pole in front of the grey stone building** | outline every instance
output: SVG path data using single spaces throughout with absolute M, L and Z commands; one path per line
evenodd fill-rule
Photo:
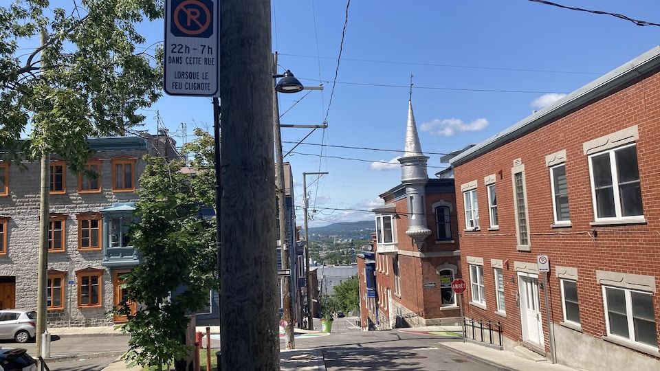
M 41 29 L 41 46 L 48 35 Z M 50 150 L 41 154 L 41 198 L 39 199 L 39 270 L 36 272 L 36 357 L 41 357 L 41 334 L 46 330 L 46 286 L 48 275 L 48 227 L 50 226 Z

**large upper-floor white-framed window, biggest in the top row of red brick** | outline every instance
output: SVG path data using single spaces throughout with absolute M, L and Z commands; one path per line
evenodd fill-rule
M 636 145 L 589 156 L 596 220 L 643 216 Z

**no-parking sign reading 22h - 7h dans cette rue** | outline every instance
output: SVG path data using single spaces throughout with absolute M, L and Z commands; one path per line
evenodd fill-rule
M 218 94 L 220 0 L 165 2 L 165 92 Z

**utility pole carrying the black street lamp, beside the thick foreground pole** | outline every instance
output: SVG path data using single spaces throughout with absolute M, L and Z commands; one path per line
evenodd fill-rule
M 277 53 L 273 55 L 273 75 L 277 74 Z M 279 227 L 280 227 L 280 251 L 282 254 L 282 269 L 289 269 L 289 245 L 287 244 L 287 213 L 286 213 L 286 198 L 287 192 L 284 186 L 284 164 L 282 156 L 282 133 L 280 131 L 280 108 L 277 100 L 277 91 L 273 85 L 273 133 L 275 136 L 275 181 L 277 192 L 277 204 L 279 212 Z M 291 275 L 284 276 L 283 278 L 283 305 L 284 305 L 284 322 L 285 325 L 285 341 L 284 344 L 287 349 L 296 348 L 296 337 L 294 336 L 294 321 L 293 321 L 293 304 L 291 301 Z

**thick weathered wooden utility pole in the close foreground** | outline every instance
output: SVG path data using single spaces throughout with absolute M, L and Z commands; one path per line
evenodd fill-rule
M 222 370 L 279 370 L 269 0 L 223 0 Z

